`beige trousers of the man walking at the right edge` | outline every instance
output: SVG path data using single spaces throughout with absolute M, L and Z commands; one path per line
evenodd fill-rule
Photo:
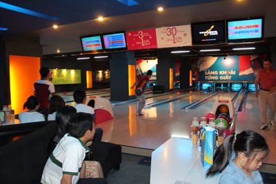
M 266 114 L 268 109 L 268 114 Z M 269 121 L 274 121 L 276 110 L 276 90 L 273 93 L 259 90 L 259 112 L 264 125 Z

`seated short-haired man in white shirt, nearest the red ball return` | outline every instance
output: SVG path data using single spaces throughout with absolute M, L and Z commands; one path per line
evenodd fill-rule
M 93 119 L 95 119 L 95 112 L 94 109 L 88 105 L 86 105 L 86 91 L 83 89 L 77 89 L 75 90 L 74 94 L 74 100 L 77 103 L 77 105 L 74 106 L 76 108 L 77 112 L 86 112 L 88 114 L 91 114 Z M 100 127 L 97 127 L 95 132 L 95 136 L 92 141 L 101 141 L 101 137 L 103 136 L 103 130 Z

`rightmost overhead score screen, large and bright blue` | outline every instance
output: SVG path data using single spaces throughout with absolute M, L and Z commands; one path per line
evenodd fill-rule
M 264 41 L 264 17 L 226 21 L 227 42 Z

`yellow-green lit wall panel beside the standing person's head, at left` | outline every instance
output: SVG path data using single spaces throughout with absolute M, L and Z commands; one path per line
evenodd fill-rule
M 81 83 L 81 70 L 50 69 L 50 73 L 54 85 Z

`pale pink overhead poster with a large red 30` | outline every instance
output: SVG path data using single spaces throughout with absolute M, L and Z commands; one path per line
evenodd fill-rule
M 190 25 L 157 28 L 157 48 L 172 48 L 192 45 Z

